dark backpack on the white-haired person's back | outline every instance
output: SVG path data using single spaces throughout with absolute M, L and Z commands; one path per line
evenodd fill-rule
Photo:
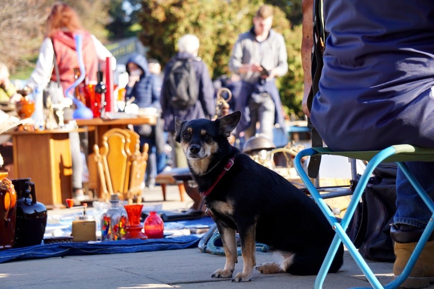
M 175 58 L 169 64 L 165 83 L 167 87 L 166 98 L 175 109 L 186 109 L 198 100 L 199 91 L 193 61 L 196 60 Z

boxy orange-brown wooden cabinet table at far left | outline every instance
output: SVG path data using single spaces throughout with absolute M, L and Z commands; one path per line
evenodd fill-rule
M 77 130 L 14 132 L 14 173 L 31 178 L 36 199 L 47 208 L 64 208 L 72 196 L 72 159 L 69 133 Z

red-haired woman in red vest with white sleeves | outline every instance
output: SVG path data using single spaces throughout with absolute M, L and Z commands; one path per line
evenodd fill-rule
M 112 57 L 112 67 L 116 67 L 116 59 L 95 36 L 82 27 L 77 13 L 69 5 L 58 2 L 51 7 L 46 20 L 45 39 L 42 42 L 35 70 L 27 84 L 30 88 L 38 88 L 41 91 L 49 81 L 57 81 L 53 69 L 54 61 L 59 68 L 59 81 L 63 91 L 74 83 L 74 68 L 79 68 L 74 39 L 76 35 L 81 35 L 83 39 L 82 54 L 86 81 L 89 84 L 96 84 L 99 61 Z M 78 133 L 70 133 L 69 138 L 72 154 L 73 198 L 79 201 L 84 199 L 82 182 L 84 163 Z M 87 149 L 86 143 L 83 146 Z

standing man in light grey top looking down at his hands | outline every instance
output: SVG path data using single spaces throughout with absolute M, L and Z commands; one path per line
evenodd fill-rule
M 285 127 L 282 102 L 275 78 L 288 71 L 283 36 L 272 29 L 273 7 L 261 6 L 253 17 L 254 26 L 240 34 L 232 50 L 229 68 L 241 77 L 235 111 L 242 112 L 236 135 L 245 140 L 258 133 L 274 140 L 275 125 Z

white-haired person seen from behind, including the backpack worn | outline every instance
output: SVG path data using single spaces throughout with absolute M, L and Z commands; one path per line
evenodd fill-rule
M 178 53 L 165 67 L 161 89 L 161 117 L 169 132 L 174 167 L 186 168 L 187 161 L 175 142 L 175 116 L 192 120 L 211 119 L 215 115 L 214 87 L 205 63 L 198 57 L 199 39 L 191 34 L 178 41 Z

